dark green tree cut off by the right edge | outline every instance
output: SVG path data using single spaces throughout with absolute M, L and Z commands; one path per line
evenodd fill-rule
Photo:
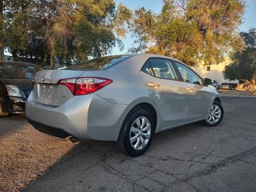
M 254 92 L 256 86 L 256 29 L 252 28 L 240 34 L 244 40 L 244 51 L 236 52 L 232 57 L 232 63 L 225 68 L 225 78 L 239 79 Z

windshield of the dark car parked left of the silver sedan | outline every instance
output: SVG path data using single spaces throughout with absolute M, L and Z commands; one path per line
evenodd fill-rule
M 6 79 L 33 79 L 39 70 L 43 69 L 26 63 L 0 63 L 0 77 Z

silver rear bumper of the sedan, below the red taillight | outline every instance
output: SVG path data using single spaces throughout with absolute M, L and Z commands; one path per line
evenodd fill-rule
M 95 93 L 74 96 L 58 107 L 39 104 L 33 92 L 26 103 L 29 122 L 41 132 L 60 138 L 116 141 L 127 107 L 112 104 Z

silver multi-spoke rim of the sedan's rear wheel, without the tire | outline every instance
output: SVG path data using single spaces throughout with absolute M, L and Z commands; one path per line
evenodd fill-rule
M 134 120 L 130 130 L 130 143 L 135 150 L 145 148 L 150 140 L 151 125 L 147 117 L 140 116 Z

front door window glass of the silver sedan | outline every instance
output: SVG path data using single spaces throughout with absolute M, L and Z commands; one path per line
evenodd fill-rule
M 202 80 L 200 77 L 198 77 L 195 72 L 190 70 L 188 67 L 185 65 L 182 65 L 180 63 L 175 62 L 175 65 L 179 69 L 179 72 L 181 74 L 182 80 L 187 83 L 193 83 L 193 84 L 201 84 L 202 85 Z

